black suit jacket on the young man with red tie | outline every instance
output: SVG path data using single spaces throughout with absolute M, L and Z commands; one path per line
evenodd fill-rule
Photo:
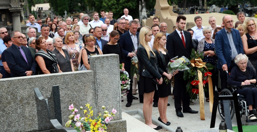
M 190 57 L 191 50 L 194 48 L 192 37 L 188 31 L 183 30 L 183 32 L 186 39 L 186 48 L 184 47 L 183 42 L 176 30 L 167 36 L 166 48 L 170 58 L 174 58 L 176 56 L 185 56 L 186 58 Z

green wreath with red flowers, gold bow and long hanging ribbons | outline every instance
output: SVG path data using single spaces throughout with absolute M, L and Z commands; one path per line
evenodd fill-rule
M 212 80 L 211 72 L 209 70 L 213 69 L 214 66 L 209 63 L 202 61 L 204 58 L 203 52 L 198 54 L 192 49 L 190 55 L 191 67 L 188 70 L 184 71 L 184 80 L 188 80 L 186 84 L 186 90 L 189 93 L 191 99 L 197 99 L 199 96 L 200 101 L 200 118 L 205 120 L 204 117 L 204 96 L 203 93 L 209 87 L 209 96 L 210 96 L 210 111 L 212 112 L 213 104 L 213 89 L 212 89 Z M 208 85 L 206 84 L 208 83 Z M 212 98 L 212 99 L 211 99 Z

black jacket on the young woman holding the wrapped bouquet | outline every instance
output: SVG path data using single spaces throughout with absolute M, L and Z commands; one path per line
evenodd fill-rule
M 166 52 L 166 51 L 165 51 Z M 157 58 L 157 67 L 159 70 L 159 73 L 162 75 L 164 72 L 167 73 L 167 65 L 166 65 L 166 60 L 162 54 L 162 52 L 158 53 L 157 50 L 154 50 L 155 53 L 155 57 Z M 168 52 L 166 52 L 166 54 L 168 54 Z M 169 58 L 170 55 L 168 54 Z

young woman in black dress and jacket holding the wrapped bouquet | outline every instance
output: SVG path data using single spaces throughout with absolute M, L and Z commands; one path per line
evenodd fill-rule
M 167 73 L 167 65 L 170 61 L 170 55 L 168 54 L 167 49 L 164 48 L 165 44 L 166 35 L 163 33 L 157 33 L 154 38 L 153 50 L 158 60 L 157 67 L 159 73 L 162 75 L 162 78 L 167 78 L 167 82 L 157 85 L 159 96 L 158 110 L 160 113 L 158 120 L 165 125 L 170 125 L 170 122 L 166 117 L 167 105 L 164 104 L 168 103 L 168 97 L 171 94 L 171 84 L 168 80 L 170 80 L 173 75 L 177 74 L 178 71 L 174 71 L 173 75 Z

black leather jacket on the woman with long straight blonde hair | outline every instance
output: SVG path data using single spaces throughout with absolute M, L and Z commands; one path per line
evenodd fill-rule
M 142 45 L 138 46 L 137 57 L 139 61 L 140 76 L 160 79 L 161 75 L 157 68 L 157 59 L 155 59 L 152 52 L 150 52 L 150 60 L 147 52 Z

